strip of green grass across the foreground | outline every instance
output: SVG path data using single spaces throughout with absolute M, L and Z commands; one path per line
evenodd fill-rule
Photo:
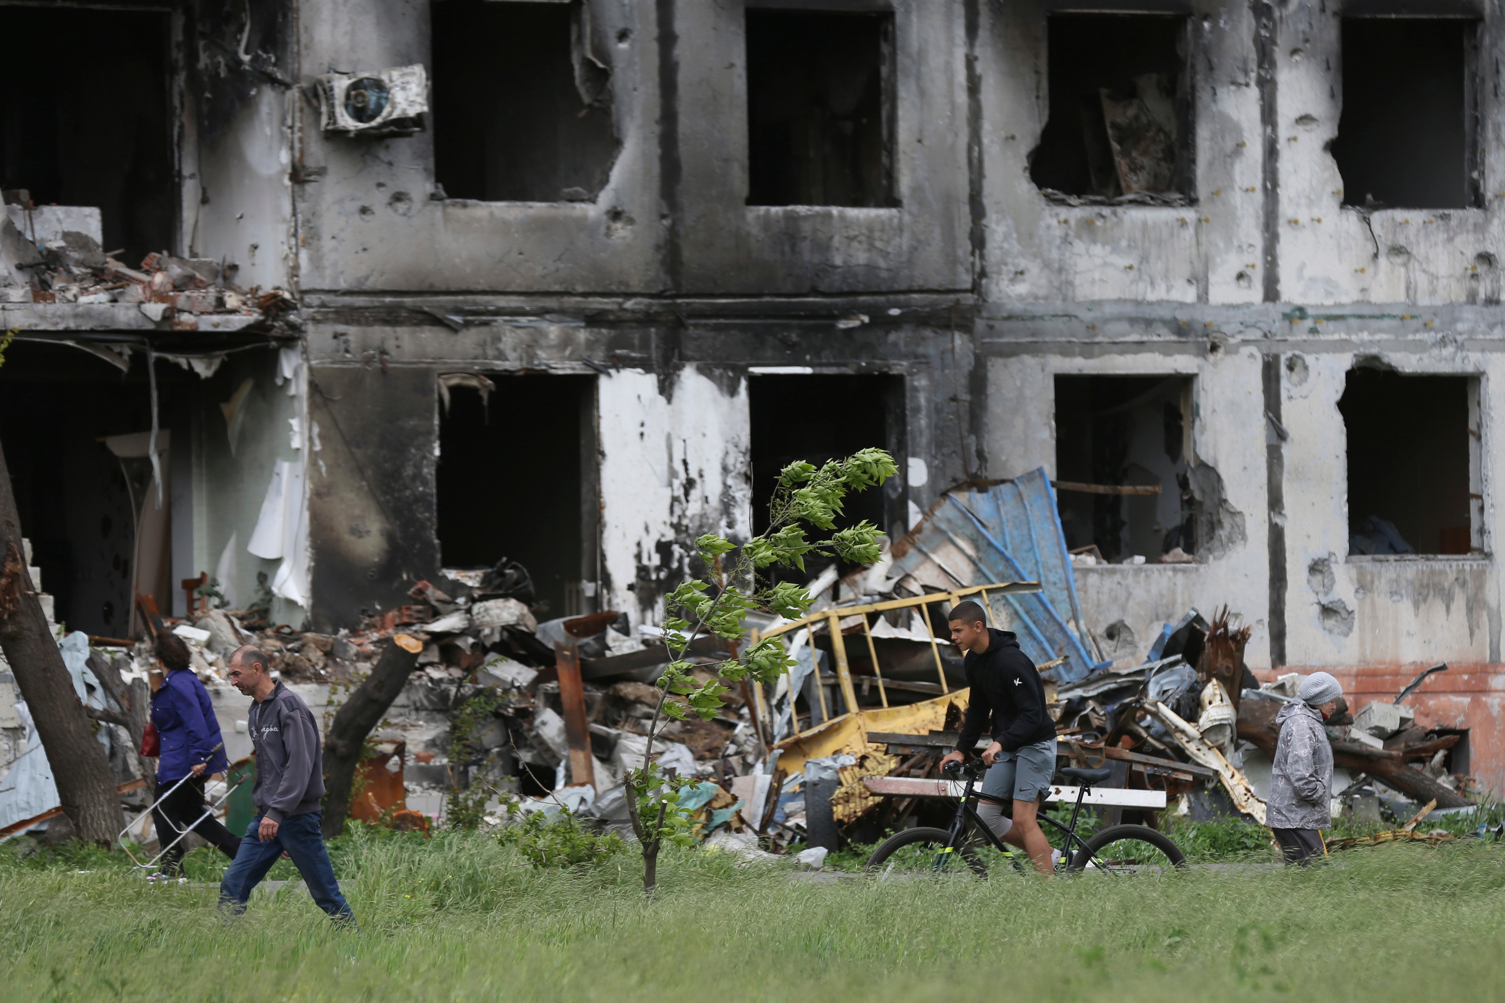
M 476 835 L 334 850 L 360 934 L 301 893 L 226 923 L 212 887 L 0 848 L 0 1000 L 1410 1003 L 1499 998 L 1505 974 L 1505 845 L 1482 841 L 1312 871 L 838 884 L 673 851 L 655 901 L 631 854 L 560 872 Z

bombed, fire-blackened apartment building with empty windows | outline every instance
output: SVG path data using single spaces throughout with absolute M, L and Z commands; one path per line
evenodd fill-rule
M 1356 705 L 1449 663 L 1418 716 L 1505 786 L 1493 5 L 0 11 L 59 623 L 336 633 L 510 559 L 631 647 L 781 465 L 880 445 L 895 541 L 1043 469 L 1105 660 L 1227 605 Z

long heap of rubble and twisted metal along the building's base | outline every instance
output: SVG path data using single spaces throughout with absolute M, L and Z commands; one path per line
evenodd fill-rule
M 932 510 L 908 543 L 923 543 L 939 513 Z M 1049 537 L 1050 525 L 1041 532 Z M 968 692 L 962 660 L 945 636 L 948 603 L 939 600 L 1013 586 L 996 579 L 926 585 L 914 568 L 929 577 L 933 565 L 906 550 L 932 561 L 936 547 L 905 544 L 841 582 L 834 571 L 819 576 L 810 583 L 814 605 L 805 621 L 760 623 L 763 636 L 786 644 L 792 672 L 757 699 L 731 689 L 710 720 L 659 717 L 652 749 L 661 699 L 653 683 L 670 662 L 659 632 L 643 626 L 634 635 L 613 611 L 540 623 L 543 605 L 515 561 L 483 573 L 445 571 L 439 585 L 420 580 L 408 592 L 411 601 L 334 635 L 272 626 L 265 606 L 208 609 L 166 626 L 188 644 L 206 684 L 226 686 L 230 653 L 256 644 L 283 681 L 328 693 L 325 722 L 339 693 L 358 684 L 388 645 L 417 656 L 391 720 L 372 735 L 370 768 L 391 770 L 394 785 L 382 788 L 385 800 L 367 794 L 369 806 L 352 808 L 357 818 L 418 809 L 442 823 L 464 811 L 500 824 L 503 805 L 521 797 L 524 811 L 569 809 L 626 830 L 623 774 L 647 755 L 697 780 L 682 792 L 682 805 L 695 812 L 701 836 L 762 859 L 793 844 L 832 850 L 843 841 L 873 842 L 886 830 L 929 821 L 932 795 L 906 795 L 873 780 L 941 777 L 939 761 L 960 737 Z M 1063 565 L 1072 561 L 1064 544 L 1058 556 Z M 1031 571 L 1050 577 L 1047 564 Z M 995 617 L 1025 621 L 1001 623 L 1020 630 L 1022 644 L 1022 627 L 1044 626 L 1035 632 L 1037 645 L 1055 632 L 1060 654 L 1043 657 L 1052 654 L 1046 648 L 1032 657 L 1046 681 L 1060 765 L 1109 767 L 1105 786 L 1163 791 L 1169 811 L 1193 818 L 1236 814 L 1263 824 L 1279 738 L 1275 717 L 1297 698 L 1302 677 L 1260 681 L 1245 665 L 1251 630 L 1227 609 L 1210 621 L 1190 609 L 1165 624 L 1138 663 L 1106 660 L 1100 651 L 1093 660 L 1087 653 L 1097 639 L 1085 629 L 1078 633 L 1079 614 L 1070 617 L 1075 626 L 1057 614 L 1075 609 L 1075 585 L 1066 579 L 1064 591 L 1060 582 L 1054 589 L 1017 582 L 1005 592 L 1008 606 L 998 595 L 983 598 Z M 700 638 L 686 657 L 706 666 L 697 672 L 704 681 L 728 654 L 725 642 Z M 1124 654 L 1117 641 L 1114 654 Z M 144 642 L 132 651 L 132 665 L 135 674 L 152 668 Z M 1327 722 L 1335 815 L 1397 826 L 1351 845 L 1439 839 L 1416 826 L 1436 812 L 1470 811 L 1482 795 L 1472 777 L 1448 768 L 1461 734 L 1419 725 L 1404 702 L 1430 672 L 1445 669 L 1428 669 L 1394 702 L 1371 701 L 1358 714 L 1339 704 Z M 570 720 L 578 723 L 572 728 Z M 1112 821 L 1138 815 L 1127 821 L 1157 826 L 1150 809 L 1102 811 Z

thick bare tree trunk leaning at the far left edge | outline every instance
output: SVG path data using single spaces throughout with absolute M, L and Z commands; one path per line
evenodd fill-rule
M 36 598 L 21 544 L 21 517 L 11 492 L 11 471 L 0 448 L 0 651 L 21 690 L 47 752 L 57 797 L 74 833 L 108 847 L 125 827 L 110 758 L 74 692 L 42 603 Z

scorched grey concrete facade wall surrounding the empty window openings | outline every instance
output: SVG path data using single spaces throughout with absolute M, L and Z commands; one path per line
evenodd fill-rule
M 905 486 L 917 510 L 965 478 L 1054 471 L 1057 374 L 1184 374 L 1193 459 L 1222 484 L 1213 546 L 1193 564 L 1081 568 L 1088 626 L 1123 620 L 1142 653 L 1186 608 L 1227 605 L 1254 626 L 1252 665 L 1327 666 L 1376 695 L 1407 666 L 1455 662 L 1470 668 L 1428 683 L 1442 701 L 1428 713 L 1499 732 L 1493 5 L 1475 81 L 1484 205 L 1361 214 L 1341 206 L 1326 149 L 1342 110 L 1333 5 L 1189 0 L 1187 197 L 1073 206 L 1029 177 L 1049 108 L 1046 20 L 1064 5 L 894 0 L 897 205 L 850 209 L 745 205 L 742 3 L 587 2 L 610 39 L 620 141 L 593 202 L 438 197 L 429 132 L 325 137 L 312 102 L 266 80 L 214 92 L 230 128 L 188 131 L 185 242 L 236 260 L 245 283 L 295 286 L 304 307 L 322 432 L 316 624 L 399 603 L 435 571 L 442 371 L 599 376 L 597 583 L 634 620 L 656 617 L 695 534 L 748 532 L 754 368 L 901 374 L 903 459 L 926 472 Z M 306 2 L 268 24 L 256 51 L 280 53 L 299 84 L 430 59 L 424 0 Z M 277 242 L 286 257 L 265 253 Z M 1473 555 L 1347 555 L 1336 403 L 1359 356 L 1478 380 Z M 236 358 L 215 385 L 254 371 L 256 421 L 227 459 L 205 408 L 196 547 L 211 559 L 254 523 L 271 462 L 296 456 L 265 359 Z M 247 588 L 257 564 L 242 553 L 241 568 Z M 1499 758 L 1491 741 L 1475 743 L 1476 761 Z

